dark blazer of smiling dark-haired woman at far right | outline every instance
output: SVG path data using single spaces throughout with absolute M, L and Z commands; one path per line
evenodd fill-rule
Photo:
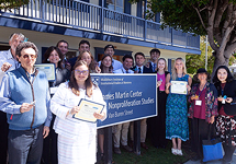
M 218 96 L 222 95 L 221 82 L 217 82 L 214 85 L 217 90 Z M 231 82 L 226 82 L 223 94 L 226 95 L 227 97 L 232 97 L 233 102 L 231 104 L 226 102 L 225 104 L 222 104 L 222 102 L 218 102 L 218 110 L 223 106 L 226 115 L 235 116 L 236 115 L 236 81 L 235 80 Z

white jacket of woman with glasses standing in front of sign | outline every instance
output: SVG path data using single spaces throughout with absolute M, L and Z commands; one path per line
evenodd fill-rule
M 72 115 L 67 115 L 68 110 L 74 106 L 78 106 L 81 98 L 86 98 L 91 102 L 97 102 L 99 104 L 104 104 L 103 112 L 106 117 L 106 103 L 103 99 L 102 92 L 99 87 L 92 90 L 92 96 L 88 97 L 86 95 L 86 90 L 79 90 L 80 95 L 77 96 L 72 93 L 71 89 L 68 87 L 68 82 L 61 83 L 50 99 L 50 110 L 56 115 L 54 122 L 54 129 L 58 134 L 65 136 L 67 138 L 88 138 L 95 137 L 97 124 L 82 121 L 72 118 Z M 103 119 L 104 120 L 104 119 Z

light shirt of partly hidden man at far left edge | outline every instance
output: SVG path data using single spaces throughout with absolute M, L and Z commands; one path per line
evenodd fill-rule
M 2 81 L 2 78 L 4 77 L 5 72 L 3 72 L 1 70 L 1 67 L 4 62 L 9 62 L 12 66 L 10 67 L 10 69 L 7 71 L 12 71 L 15 70 L 16 68 L 19 68 L 21 65 L 13 58 L 12 54 L 11 54 L 11 49 L 5 50 L 5 51 L 0 51 L 0 83 Z

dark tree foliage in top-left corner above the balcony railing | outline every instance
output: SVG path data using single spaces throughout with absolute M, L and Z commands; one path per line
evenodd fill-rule
M 0 10 L 11 10 L 27 4 L 30 0 L 0 0 Z

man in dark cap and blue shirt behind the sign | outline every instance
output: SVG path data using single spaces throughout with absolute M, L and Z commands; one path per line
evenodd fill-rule
M 114 55 L 114 46 L 113 45 L 106 45 L 104 47 L 104 55 L 110 55 L 111 57 L 113 57 Z M 99 61 L 99 66 L 101 65 L 101 61 Z M 113 71 L 122 69 L 123 65 L 121 63 L 121 61 L 112 59 L 112 67 L 113 67 Z

